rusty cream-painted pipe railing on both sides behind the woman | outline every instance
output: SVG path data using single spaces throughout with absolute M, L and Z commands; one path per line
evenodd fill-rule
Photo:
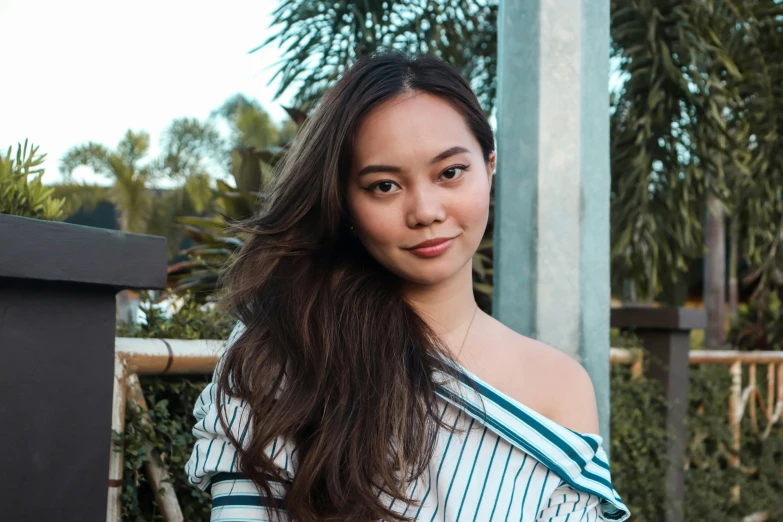
M 125 431 L 125 407 L 130 401 L 134 407 L 146 411 L 144 396 L 139 386 L 138 375 L 209 374 L 215 368 L 225 350 L 225 341 L 182 341 L 171 339 L 117 338 L 115 343 L 114 409 L 112 430 L 122 434 Z M 641 350 L 612 348 L 611 364 L 627 364 L 634 376 L 642 373 Z M 756 434 L 767 438 L 781 418 L 783 411 L 783 352 L 737 352 L 731 350 L 697 350 L 689 353 L 690 364 L 724 364 L 731 374 L 731 395 L 728 404 L 728 420 L 733 433 L 731 464 L 739 467 L 740 423 L 746 411 Z M 748 383 L 743 387 L 742 365 L 749 365 Z M 757 366 L 767 365 L 766 401 L 756 384 Z M 766 427 L 759 427 L 758 411 L 766 418 Z M 120 515 L 120 492 L 122 488 L 123 453 L 120 441 L 114 441 L 109 468 L 109 504 L 107 521 L 116 522 Z M 183 521 L 176 494 L 168 480 L 168 474 L 154 455 L 149 455 L 145 471 L 155 491 L 156 501 L 167 522 Z M 734 494 L 739 490 L 735 488 Z

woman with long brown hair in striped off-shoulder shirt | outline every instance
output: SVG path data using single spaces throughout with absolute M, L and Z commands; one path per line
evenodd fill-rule
M 212 520 L 624 520 L 581 365 L 476 305 L 494 136 L 433 57 L 362 58 L 225 279 L 187 465 Z

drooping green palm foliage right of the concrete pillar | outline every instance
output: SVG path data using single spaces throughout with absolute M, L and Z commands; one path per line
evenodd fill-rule
M 615 289 L 630 280 L 653 297 L 687 272 L 704 251 L 708 194 L 739 219 L 741 254 L 762 283 L 774 282 L 781 29 L 783 4 L 771 0 L 612 2 L 612 56 L 626 79 L 612 98 Z

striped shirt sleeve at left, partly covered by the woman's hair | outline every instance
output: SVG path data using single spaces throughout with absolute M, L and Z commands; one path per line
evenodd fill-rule
M 236 338 L 237 328 L 229 338 L 229 344 Z M 281 437 L 269 444 L 267 455 L 279 467 L 284 482 L 270 483 L 273 498 L 262 495 L 239 471 L 236 450 L 218 418 L 216 375 L 217 370 L 193 407 L 196 442 L 185 465 L 188 481 L 212 497 L 212 522 L 268 521 L 272 519 L 270 508 L 281 505 L 293 480 L 296 450 Z M 244 445 L 250 440 L 250 407 L 245 401 L 230 396 L 225 397 L 222 406 L 231 434 Z M 287 520 L 284 513 L 283 516 L 281 522 Z

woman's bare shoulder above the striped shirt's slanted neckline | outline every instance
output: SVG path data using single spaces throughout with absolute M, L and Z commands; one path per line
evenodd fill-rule
M 489 382 L 558 424 L 598 433 L 595 390 L 584 367 L 560 350 L 492 321 L 493 348 L 483 363 L 495 381 Z

